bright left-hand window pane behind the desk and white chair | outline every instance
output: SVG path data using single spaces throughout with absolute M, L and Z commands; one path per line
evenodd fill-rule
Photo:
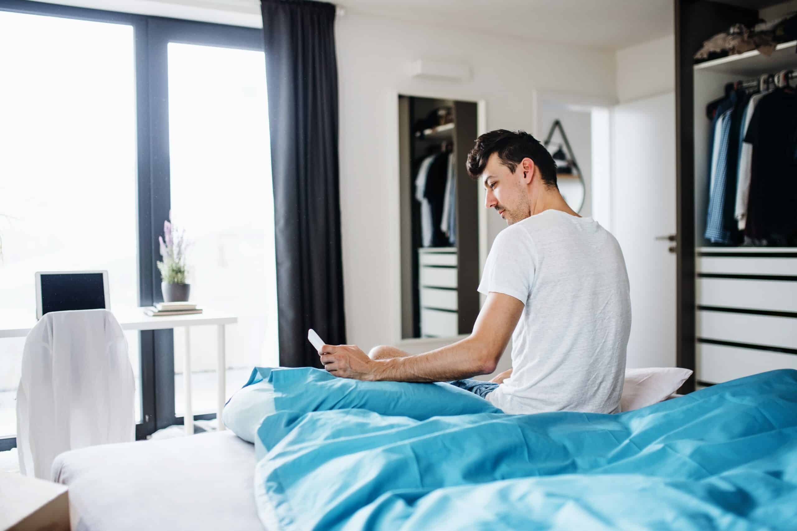
M 136 306 L 132 26 L 0 11 L 0 49 L 0 306 L 33 317 L 36 271 L 88 269 Z M 24 343 L 0 339 L 0 435 L 16 431 Z

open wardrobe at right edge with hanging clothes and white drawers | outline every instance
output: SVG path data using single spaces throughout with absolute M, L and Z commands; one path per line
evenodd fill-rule
M 720 38 L 706 48 L 704 43 L 732 25 L 752 29 L 761 19 L 779 18 L 790 6 L 794 2 L 675 2 L 677 365 L 694 370 L 681 392 L 772 369 L 797 369 L 797 247 L 791 229 L 784 229 L 790 232 L 785 235 L 773 230 L 771 236 L 758 237 L 750 229 L 750 218 L 746 228 L 743 221 L 744 205 L 752 209 L 752 199 L 740 202 L 741 211 L 734 204 L 737 192 L 753 190 L 740 177 L 743 146 L 751 146 L 747 149 L 754 150 L 752 156 L 759 157 L 752 162 L 756 189 L 764 185 L 771 192 L 769 204 L 757 200 L 756 220 L 762 210 L 765 217 L 778 213 L 779 219 L 797 219 L 797 210 L 783 206 L 797 204 L 792 202 L 797 197 L 783 196 L 783 190 L 791 188 L 779 184 L 797 180 L 797 166 L 783 163 L 760 170 L 768 144 L 760 144 L 750 131 L 769 126 L 759 119 L 763 112 L 756 116 L 748 107 L 755 94 L 764 101 L 777 92 L 791 101 L 797 79 L 790 81 L 794 76 L 788 71 L 797 71 L 797 38 L 777 38 L 764 45 L 762 39 L 744 53 L 715 50 L 695 59 L 701 49 L 717 48 L 717 42 L 739 44 L 744 50 L 754 39 L 739 37 L 738 27 L 732 38 Z M 783 75 L 777 80 L 779 74 Z M 739 103 L 731 103 L 731 98 Z M 794 143 L 797 160 L 797 131 L 791 131 L 797 128 L 792 127 L 789 108 L 783 107 L 778 126 L 787 124 L 789 132 L 783 134 L 794 135 L 788 142 Z M 755 125 L 745 125 L 745 111 L 751 111 Z M 728 131 L 738 132 L 734 137 Z M 775 130 L 766 131 L 772 139 Z

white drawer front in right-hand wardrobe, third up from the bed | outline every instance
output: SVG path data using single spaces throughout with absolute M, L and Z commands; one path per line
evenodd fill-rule
M 699 277 L 696 291 L 701 306 L 797 312 L 797 282 L 788 280 Z

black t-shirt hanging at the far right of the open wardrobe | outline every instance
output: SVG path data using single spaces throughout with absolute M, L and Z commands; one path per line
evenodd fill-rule
M 797 244 L 797 94 L 777 88 L 761 98 L 744 141 L 752 144 L 744 235 Z

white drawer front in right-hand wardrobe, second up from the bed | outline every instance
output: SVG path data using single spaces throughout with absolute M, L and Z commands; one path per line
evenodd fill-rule
M 697 337 L 797 349 L 797 318 L 700 310 Z

